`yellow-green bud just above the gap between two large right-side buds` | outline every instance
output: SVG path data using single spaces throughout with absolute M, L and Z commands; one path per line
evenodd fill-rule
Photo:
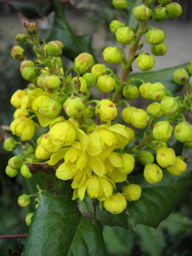
M 180 109 L 179 103 L 176 98 L 165 96 L 161 100 L 160 110 L 166 114 L 166 116 L 171 116 L 172 114 L 178 112 Z

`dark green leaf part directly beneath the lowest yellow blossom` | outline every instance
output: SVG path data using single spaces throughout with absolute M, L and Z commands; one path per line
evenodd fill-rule
M 128 230 L 128 212 L 127 210 L 123 211 L 119 214 L 112 214 L 108 212 L 104 208 L 102 210 L 99 209 L 99 204 L 95 207 L 95 219 L 100 221 L 103 225 L 108 226 L 119 226 L 124 227 Z

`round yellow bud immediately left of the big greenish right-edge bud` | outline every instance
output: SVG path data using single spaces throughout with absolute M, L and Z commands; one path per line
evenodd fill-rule
M 155 140 L 166 142 L 170 140 L 173 134 L 173 127 L 166 121 L 159 121 L 153 129 L 153 136 Z

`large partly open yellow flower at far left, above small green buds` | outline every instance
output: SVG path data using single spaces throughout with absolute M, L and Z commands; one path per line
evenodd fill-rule
M 13 134 L 21 137 L 21 140 L 31 140 L 35 134 L 35 122 L 26 117 L 15 119 L 10 125 Z

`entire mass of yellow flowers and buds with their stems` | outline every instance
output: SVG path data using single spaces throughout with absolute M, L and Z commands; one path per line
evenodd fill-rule
M 150 184 L 161 181 L 162 168 L 175 176 L 186 171 L 185 161 L 167 142 L 175 133 L 179 142 L 192 147 L 192 125 L 184 116 L 185 111 L 192 111 L 189 82 L 192 61 L 188 70 L 178 69 L 173 73 L 176 84 L 189 85 L 183 97 L 173 96 L 160 81 L 151 84 L 150 81 L 128 78 L 134 61 L 140 70 L 148 71 L 154 67 L 156 56 L 167 52 L 163 42 L 165 33 L 148 26 L 148 20 L 152 18 L 158 22 L 182 14 L 181 6 L 172 0 L 158 0 L 159 5 L 152 9 L 154 2 L 145 0 L 140 6 L 133 6 L 128 0 L 113 0 L 113 6 L 118 10 L 131 6 L 139 21 L 137 31 L 119 20 L 110 24 L 119 47 L 106 47 L 103 58 L 107 64 L 122 66 L 121 77 L 107 64 L 96 63 L 87 52 L 77 56 L 64 73 L 60 56 L 65 42 L 46 44 L 44 38 L 39 40 L 37 24 L 25 21 L 26 32 L 17 34 L 15 40 L 17 44 L 31 44 L 36 57 L 30 60 L 22 47 L 12 48 L 12 58 L 21 61 L 21 75 L 29 84 L 25 90 L 18 89 L 11 98 L 16 110 L 10 129 L 21 142 L 7 138 L 4 148 L 13 151 L 22 145 L 23 152 L 9 160 L 6 168 L 9 177 L 20 171 L 21 175 L 30 178 L 32 174 L 27 163 L 47 162 L 49 166 L 57 166 L 55 175 L 58 179 L 71 180 L 73 200 L 83 201 L 87 193 L 89 198 L 99 201 L 100 209 L 104 207 L 119 214 L 127 204 L 140 200 L 142 194 L 138 184 L 129 182 L 135 161 L 143 165 L 143 179 Z M 143 35 L 146 41 L 140 43 Z M 141 50 L 144 43 L 151 45 L 151 53 Z M 128 56 L 125 46 L 129 47 Z M 73 73 L 76 74 L 74 77 Z M 135 81 L 140 82 L 139 88 Z M 90 88 L 94 86 L 103 93 L 102 99 L 92 98 Z M 128 103 L 129 99 L 137 102 L 140 95 L 154 102 L 146 109 Z M 122 111 L 117 110 L 119 106 L 123 107 Z M 117 116 L 122 116 L 129 126 L 118 123 Z M 40 126 L 47 128 L 47 132 L 34 142 L 35 130 Z M 140 141 L 135 139 L 135 131 L 138 131 L 135 128 L 143 131 Z M 127 185 L 119 190 L 116 183 Z M 43 192 L 38 189 L 36 195 L 21 195 L 18 204 L 26 207 L 30 198 L 36 196 L 38 207 Z M 30 212 L 26 216 L 27 225 L 30 225 L 32 215 Z

